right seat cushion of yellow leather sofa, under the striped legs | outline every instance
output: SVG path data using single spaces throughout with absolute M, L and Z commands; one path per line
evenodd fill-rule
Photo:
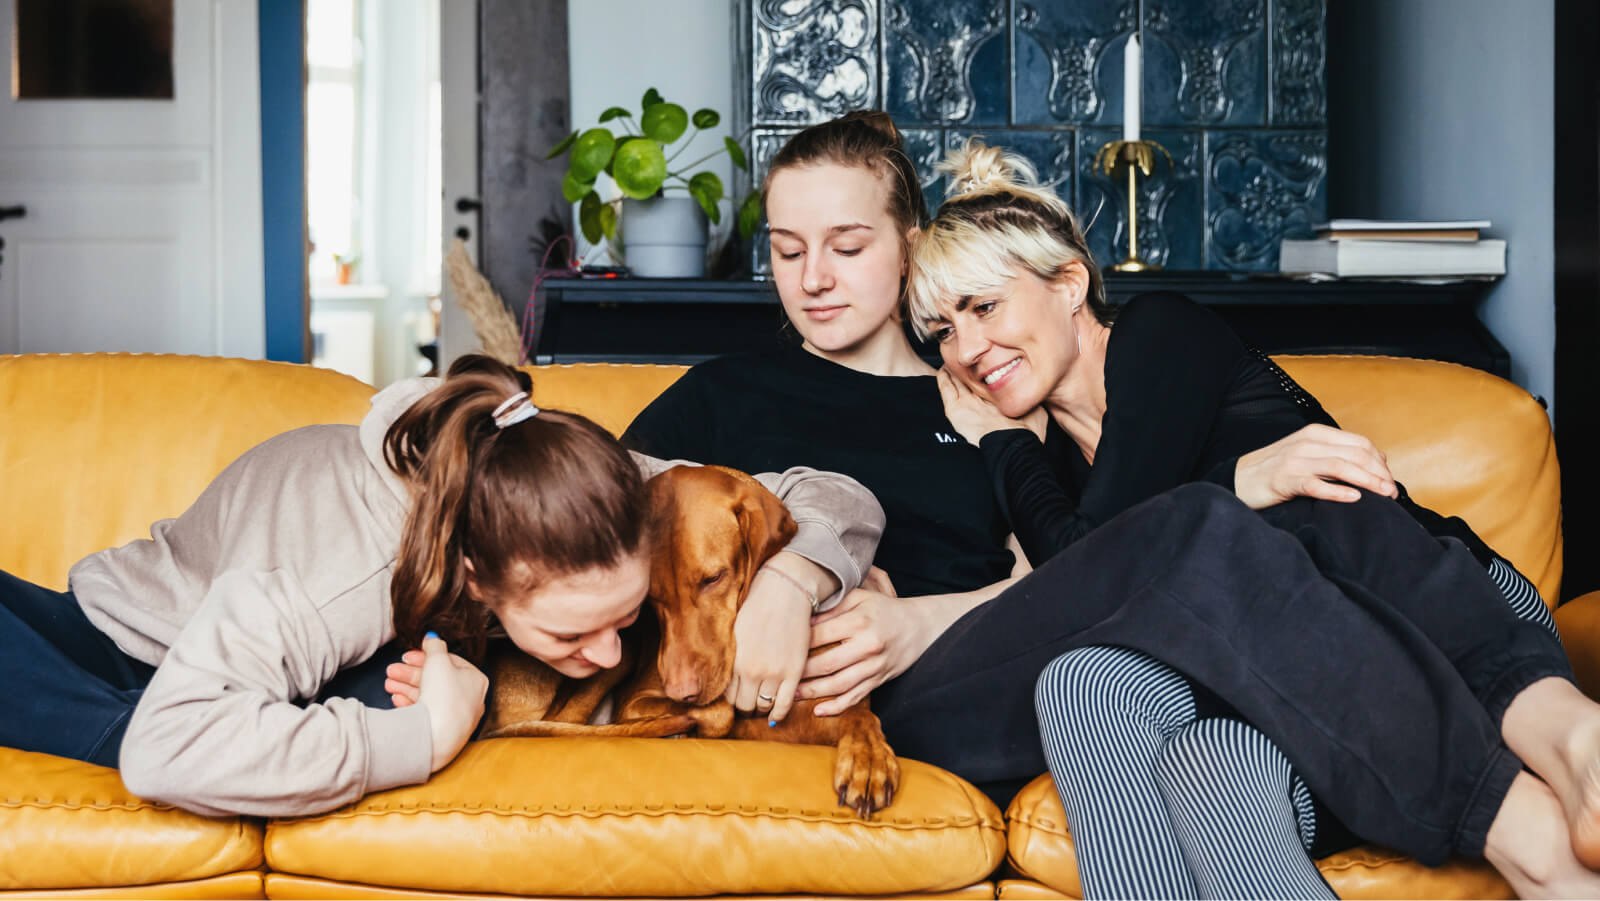
M 1006 808 L 1006 856 L 1018 874 L 1069 898 L 1083 898 L 1077 848 L 1056 783 L 1040 776 Z M 1376 847 L 1352 848 L 1317 861 L 1339 898 L 1515 898 L 1510 885 L 1483 861 L 1426 867 Z M 1005 883 L 1003 883 L 1005 885 Z M 1013 891 L 1014 898 L 1027 898 Z

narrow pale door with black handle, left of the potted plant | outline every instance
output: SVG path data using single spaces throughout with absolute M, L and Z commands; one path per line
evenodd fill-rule
M 443 235 L 445 253 L 458 235 L 466 235 L 467 256 L 478 267 L 478 3 L 443 0 L 438 5 L 438 94 L 443 122 Z M 466 203 L 461 203 L 466 200 Z M 456 302 L 450 270 L 440 277 L 438 371 L 451 360 L 480 347 L 472 320 Z

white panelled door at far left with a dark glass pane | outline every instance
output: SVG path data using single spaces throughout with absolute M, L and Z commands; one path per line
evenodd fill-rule
M 14 29 L 0 0 L 0 53 Z M 171 99 L 18 99 L 13 77 L 0 354 L 264 354 L 256 34 L 256 0 L 173 0 Z

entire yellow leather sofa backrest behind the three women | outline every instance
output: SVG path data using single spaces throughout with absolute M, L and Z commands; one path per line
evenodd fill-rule
M 1544 410 L 1491 374 L 1390 357 L 1280 357 L 1413 496 L 1464 517 L 1544 594 L 1562 578 L 1560 469 Z M 614 434 L 685 366 L 530 366 L 534 403 Z M 278 432 L 357 422 L 373 389 L 328 370 L 130 354 L 0 357 L 0 570 L 64 587 L 86 554 L 149 535 Z

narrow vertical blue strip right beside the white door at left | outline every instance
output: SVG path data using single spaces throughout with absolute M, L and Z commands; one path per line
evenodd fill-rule
M 306 11 L 261 0 L 261 218 L 267 358 L 306 360 Z

